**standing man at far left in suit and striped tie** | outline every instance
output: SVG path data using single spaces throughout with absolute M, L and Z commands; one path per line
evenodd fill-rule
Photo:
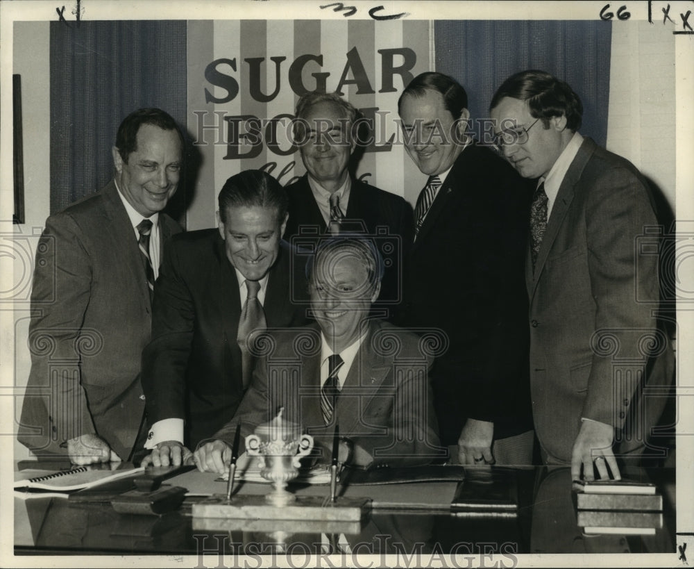
M 145 108 L 124 119 L 115 178 L 51 215 L 37 248 L 32 356 L 20 442 L 78 464 L 128 459 L 142 424 L 142 348 L 164 242 L 162 213 L 181 167 L 176 122 Z

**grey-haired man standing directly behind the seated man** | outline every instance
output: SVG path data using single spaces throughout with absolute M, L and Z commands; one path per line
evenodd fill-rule
M 389 308 L 392 319 L 402 300 L 403 260 L 414 235 L 412 207 L 402 197 L 350 175 L 350 158 L 359 140 L 357 128 L 357 109 L 339 95 L 308 93 L 299 99 L 294 135 L 307 173 L 287 186 L 285 238 L 303 235 L 305 243 L 323 233 L 378 235 L 376 242 L 390 261 L 378 306 Z

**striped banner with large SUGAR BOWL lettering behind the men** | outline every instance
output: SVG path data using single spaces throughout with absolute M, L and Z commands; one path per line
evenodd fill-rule
M 189 21 L 187 129 L 199 161 L 187 228 L 214 226 L 229 176 L 262 168 L 287 185 L 305 172 L 290 120 L 304 92 L 341 92 L 373 122 L 357 177 L 414 204 L 426 177 L 412 163 L 397 103 L 433 69 L 430 22 Z

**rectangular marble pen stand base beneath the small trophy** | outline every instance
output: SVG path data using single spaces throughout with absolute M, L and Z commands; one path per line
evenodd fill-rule
M 212 495 L 193 504 L 193 518 L 238 520 L 317 520 L 321 522 L 359 522 L 371 510 L 370 498 L 297 496 L 285 506 L 269 504 L 264 496 Z

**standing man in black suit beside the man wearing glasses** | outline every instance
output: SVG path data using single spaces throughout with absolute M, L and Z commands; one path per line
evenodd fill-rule
M 404 323 L 448 337 L 432 386 L 451 460 L 529 464 L 529 196 L 502 158 L 466 134 L 466 106 L 462 85 L 433 72 L 415 77 L 398 101 L 407 152 L 430 176 L 415 208 Z

